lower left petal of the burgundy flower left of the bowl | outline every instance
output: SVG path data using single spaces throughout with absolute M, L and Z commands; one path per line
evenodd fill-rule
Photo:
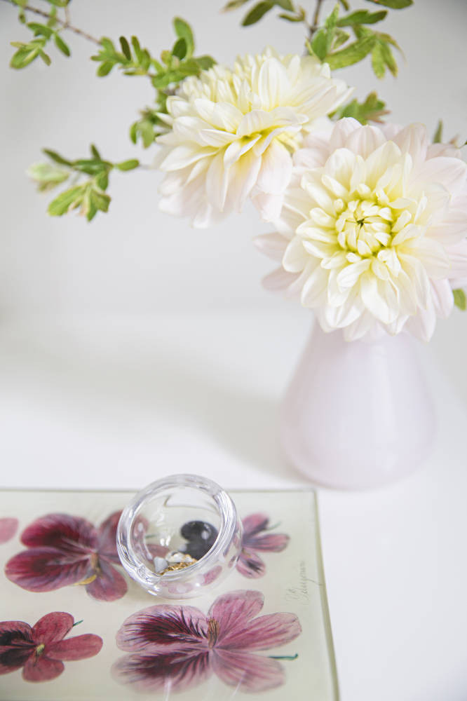
M 76 554 L 70 562 L 67 553 L 55 547 L 33 547 L 20 552 L 6 563 L 8 579 L 29 592 L 52 592 L 76 584 L 88 576 L 86 554 Z

